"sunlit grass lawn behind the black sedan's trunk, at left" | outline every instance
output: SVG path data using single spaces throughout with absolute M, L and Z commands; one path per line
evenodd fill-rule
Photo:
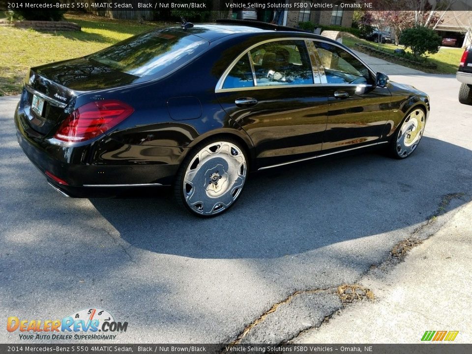
M 54 33 L 0 27 L 0 95 L 19 93 L 32 66 L 82 57 L 162 25 L 85 15 L 66 15 L 65 19 L 82 26 L 82 31 Z

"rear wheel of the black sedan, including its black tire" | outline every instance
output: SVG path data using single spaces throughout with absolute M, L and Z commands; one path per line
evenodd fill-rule
M 201 217 L 225 212 L 241 194 L 247 165 L 244 148 L 232 139 L 200 143 L 185 157 L 177 173 L 177 204 Z

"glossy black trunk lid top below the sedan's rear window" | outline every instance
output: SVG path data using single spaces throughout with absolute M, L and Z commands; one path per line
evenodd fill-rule
M 128 85 L 139 79 L 97 61 L 78 58 L 32 68 L 41 76 L 68 89 L 89 91 Z

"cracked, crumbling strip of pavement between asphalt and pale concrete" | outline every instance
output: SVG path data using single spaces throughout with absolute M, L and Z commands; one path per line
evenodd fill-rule
M 290 343 L 300 334 L 328 322 L 332 316 L 339 313 L 341 309 L 346 308 L 350 303 L 363 299 L 374 300 L 374 294 L 369 289 L 360 285 L 359 282 L 369 273 L 378 271 L 388 272 L 393 266 L 402 262 L 413 247 L 420 245 L 424 240 L 435 235 L 445 223 L 444 220 L 438 223 L 438 219 L 442 218 L 447 211 L 447 207 L 450 206 L 454 199 L 461 199 L 464 196 L 465 193 L 442 195 L 441 202 L 435 212 L 423 224 L 418 226 L 409 237 L 395 244 L 386 259 L 378 265 L 370 266 L 369 269 L 362 273 L 355 284 L 342 284 L 325 289 L 297 290 L 282 301 L 274 303 L 269 310 L 246 325 L 236 336 L 236 339 L 231 342 L 230 346 L 244 342 Z M 324 298 L 322 298 L 323 296 Z M 335 298 L 337 298 L 337 301 Z M 300 309 L 296 307 L 296 301 L 299 302 L 299 307 L 302 307 L 302 310 L 304 310 L 301 314 L 297 314 Z M 290 306 L 293 307 L 292 311 L 290 311 Z M 315 311 L 310 306 L 314 306 Z M 281 321 L 277 318 L 277 314 Z M 301 320 L 294 321 L 294 317 L 296 319 L 301 318 Z M 287 329 L 290 325 L 286 322 L 290 321 L 292 321 L 291 324 L 296 326 L 296 328 Z M 277 329 L 281 334 L 274 329 Z M 248 341 L 248 339 L 252 340 Z M 221 353 L 227 353 L 227 351 L 225 348 L 221 349 Z

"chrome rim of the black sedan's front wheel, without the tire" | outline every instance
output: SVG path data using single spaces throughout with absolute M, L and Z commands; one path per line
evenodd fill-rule
M 426 117 L 422 109 L 415 109 L 403 121 L 398 131 L 396 152 L 398 157 L 409 156 L 423 136 Z

